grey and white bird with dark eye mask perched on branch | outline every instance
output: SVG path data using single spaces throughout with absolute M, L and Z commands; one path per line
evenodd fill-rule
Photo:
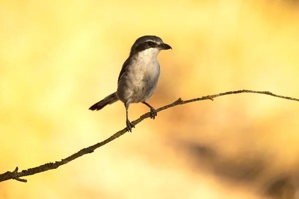
M 135 125 L 129 120 L 128 110 L 131 103 L 144 103 L 150 108 L 150 118 L 157 115 L 147 100 L 149 100 L 156 90 L 160 76 L 160 65 L 157 55 L 161 50 L 171 49 L 171 46 L 164 43 L 160 37 L 146 35 L 138 38 L 133 46 L 128 59 L 122 66 L 118 78 L 117 91 L 110 94 L 103 100 L 90 106 L 90 110 L 101 110 L 108 104 L 118 100 L 122 101 L 126 107 L 127 131 L 132 132 Z

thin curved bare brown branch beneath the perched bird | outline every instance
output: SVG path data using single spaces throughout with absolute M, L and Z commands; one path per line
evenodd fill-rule
M 270 93 L 268 91 L 250 91 L 250 90 L 240 90 L 240 91 L 231 91 L 231 92 L 226 92 L 226 93 L 221 93 L 221 94 L 217 94 L 217 95 L 212 95 L 212 96 L 206 96 L 206 97 L 202 97 L 202 98 L 196 98 L 196 99 L 192 99 L 192 100 L 181 100 L 180 98 L 176 101 L 174 101 L 173 103 L 170 103 L 168 105 L 162 106 L 160 108 L 158 108 L 156 111 L 159 112 L 161 110 L 176 106 L 176 105 L 181 105 L 181 104 L 185 104 L 185 103 L 190 103 L 193 101 L 200 101 L 200 100 L 214 100 L 214 98 L 220 97 L 220 96 L 226 96 L 226 95 L 231 95 L 231 94 L 239 94 L 239 93 L 256 93 L 256 94 L 265 94 L 265 95 L 269 95 L 269 96 L 273 96 L 273 97 L 277 97 L 277 98 L 283 98 L 283 99 L 287 99 L 287 100 L 295 100 L 295 101 L 299 101 L 299 99 L 296 98 L 290 98 L 290 97 L 285 97 L 285 96 L 279 96 L 279 95 L 275 95 L 273 93 Z M 150 113 L 146 113 L 143 114 L 140 118 L 138 118 L 137 120 L 133 121 L 132 123 L 134 125 L 137 125 L 138 123 L 140 123 L 142 120 L 148 118 L 150 116 Z M 30 176 L 30 175 L 34 175 L 40 172 L 45 172 L 51 169 L 57 169 L 59 166 L 64 165 L 72 160 L 75 160 L 76 158 L 79 158 L 85 154 L 88 153 L 92 153 L 94 152 L 95 149 L 111 142 L 112 140 L 115 140 L 116 138 L 120 137 L 121 135 L 125 134 L 127 132 L 127 128 L 124 128 L 123 130 L 118 131 L 117 133 L 115 133 L 114 135 L 112 135 L 111 137 L 109 137 L 108 139 L 97 143 L 93 146 L 81 149 L 79 152 L 65 158 L 62 159 L 61 161 L 56 161 L 55 163 L 46 163 L 44 165 L 40 165 L 38 167 L 34 167 L 31 169 L 27 169 L 27 170 L 23 170 L 21 172 L 17 172 L 18 168 L 16 167 L 15 170 L 13 172 L 5 172 L 3 174 L 0 174 L 0 182 L 2 181 L 6 181 L 6 180 L 10 180 L 10 179 L 14 179 L 20 182 L 27 182 L 27 180 L 25 179 L 20 179 L 20 177 L 24 177 L 24 176 Z

